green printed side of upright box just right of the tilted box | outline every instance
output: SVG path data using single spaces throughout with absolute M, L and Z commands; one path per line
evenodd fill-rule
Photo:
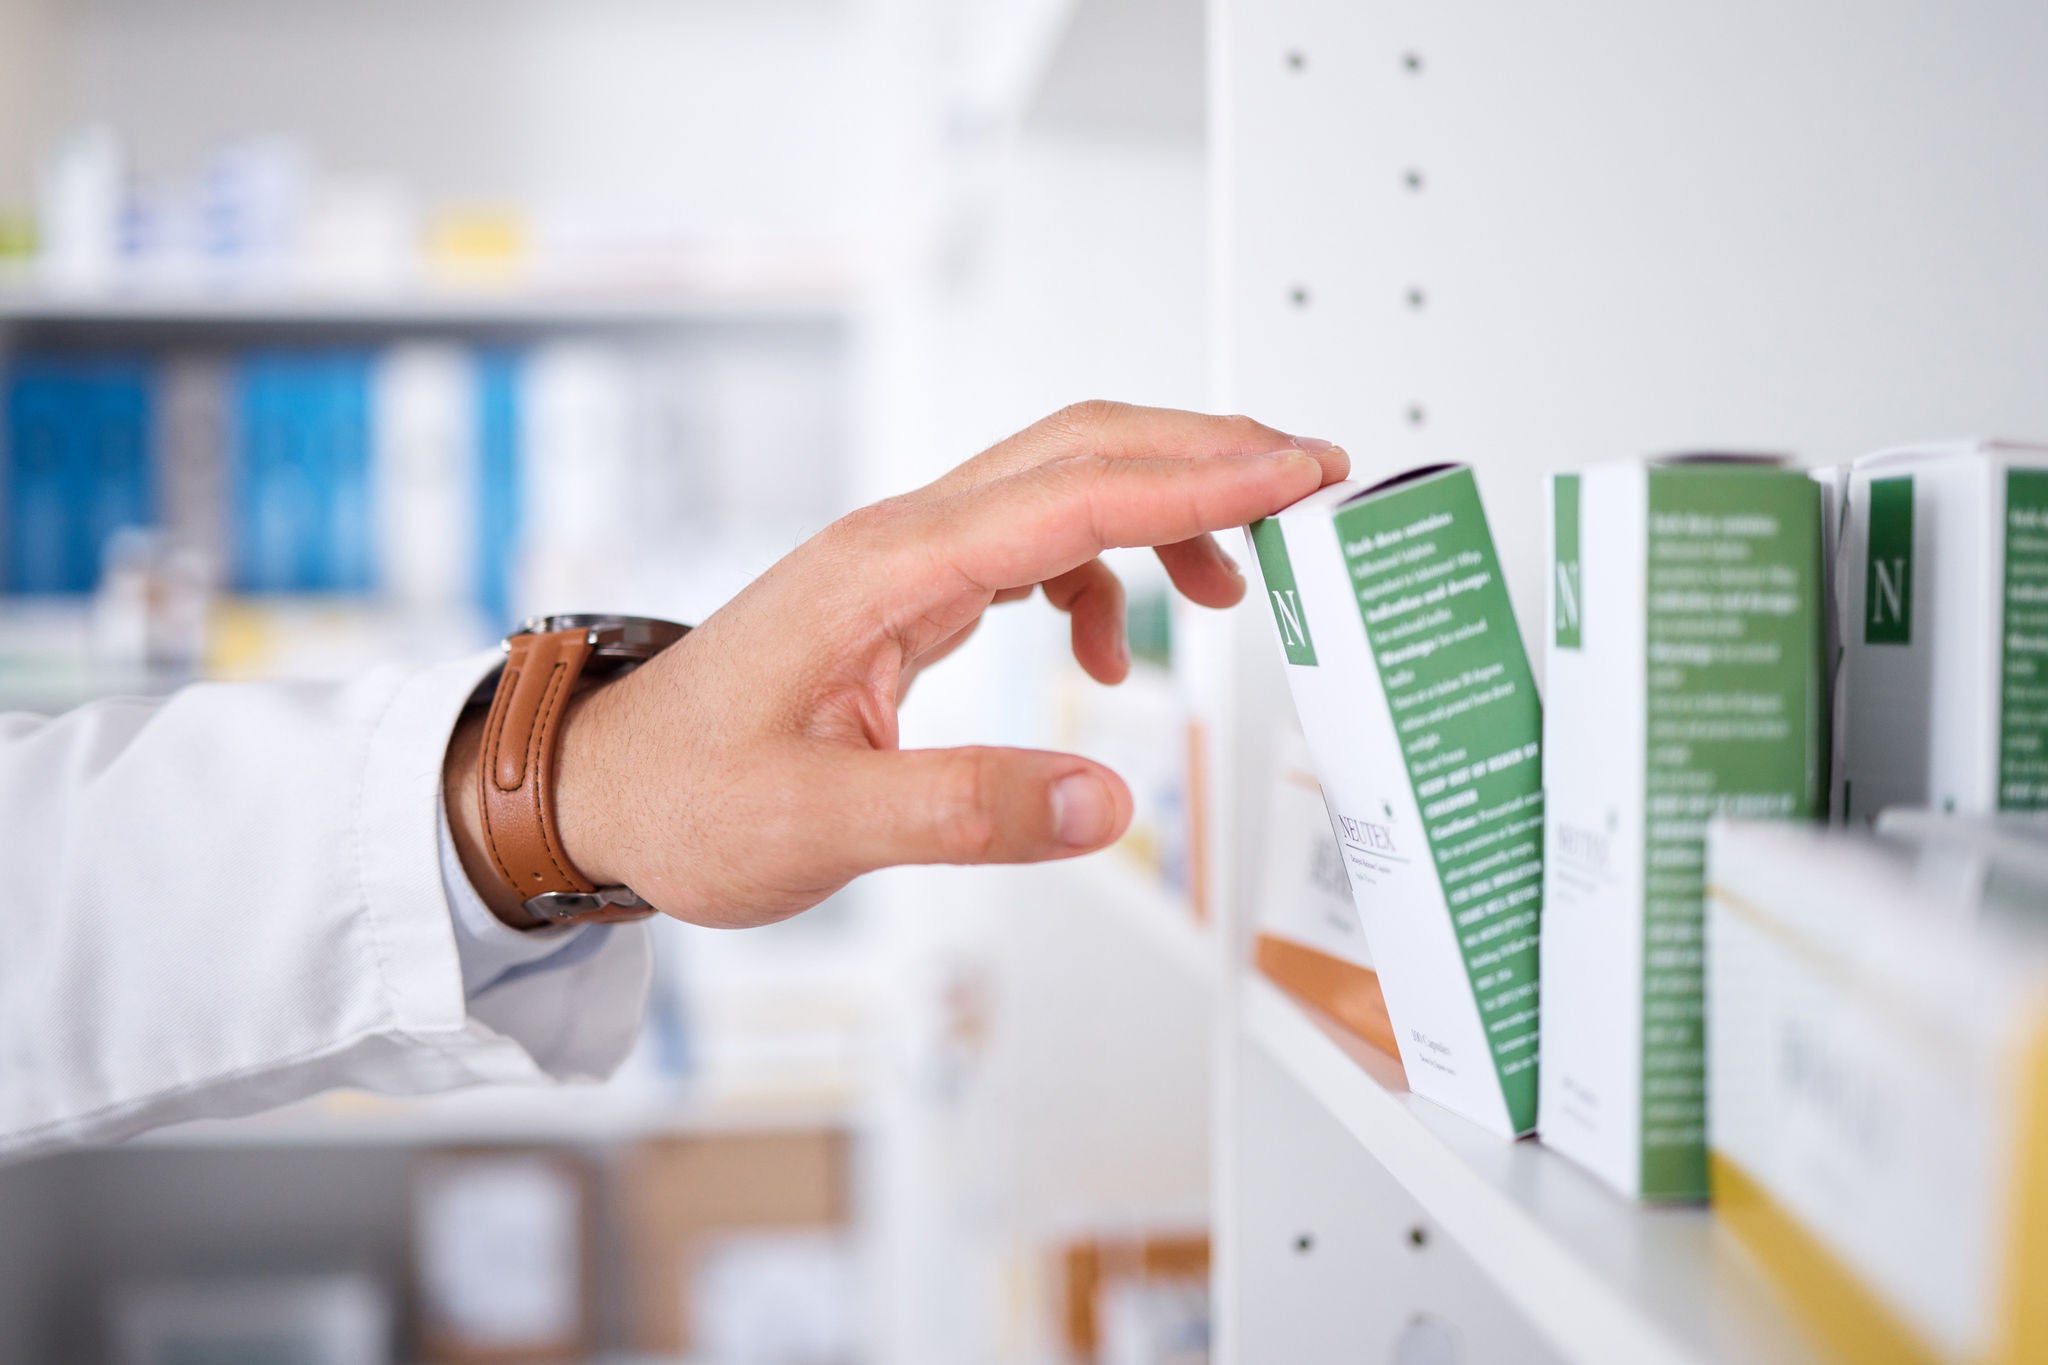
M 1821 810 L 1821 493 L 1729 467 L 1649 485 L 1642 1195 L 1700 1199 L 1706 821 Z

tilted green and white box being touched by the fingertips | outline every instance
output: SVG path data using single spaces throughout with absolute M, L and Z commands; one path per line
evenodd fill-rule
M 1530 1132 L 1542 708 L 1473 471 L 1331 485 L 1249 536 L 1409 1087 Z

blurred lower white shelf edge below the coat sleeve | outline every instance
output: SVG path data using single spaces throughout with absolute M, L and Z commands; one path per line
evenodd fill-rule
M 135 1140 L 158 1148 L 305 1148 L 625 1142 L 719 1132 L 856 1126 L 846 1093 L 692 1097 L 627 1087 L 481 1087 L 449 1095 L 322 1095 L 240 1119 L 199 1119 Z

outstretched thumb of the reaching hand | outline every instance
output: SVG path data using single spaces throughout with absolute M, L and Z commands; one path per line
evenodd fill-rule
M 838 778 L 846 853 L 862 872 L 1073 857 L 1130 825 L 1122 778 L 1071 753 L 901 749 L 850 757 Z

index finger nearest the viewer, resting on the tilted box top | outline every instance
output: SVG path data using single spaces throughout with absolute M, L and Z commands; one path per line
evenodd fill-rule
M 1305 450 L 1202 454 L 1186 460 L 1071 458 L 1026 469 L 934 501 L 924 551 L 979 591 L 1042 583 L 1112 546 L 1180 544 L 1243 526 L 1323 485 Z M 1176 551 L 1206 587 L 1202 551 Z M 1176 575 L 1176 583 L 1178 583 Z

